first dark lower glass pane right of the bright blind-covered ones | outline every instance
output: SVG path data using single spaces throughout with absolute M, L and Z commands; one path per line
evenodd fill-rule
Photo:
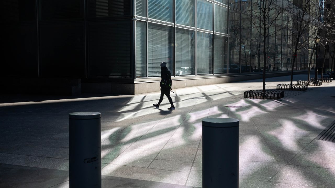
M 240 73 L 240 40 L 229 37 L 228 40 L 228 73 Z

